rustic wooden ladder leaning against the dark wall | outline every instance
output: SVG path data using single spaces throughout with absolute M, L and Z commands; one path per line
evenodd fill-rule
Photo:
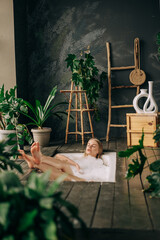
M 107 126 L 107 134 L 106 134 L 106 141 L 109 141 L 109 133 L 111 127 L 127 127 L 126 124 L 112 124 L 111 123 L 111 111 L 112 109 L 120 109 L 120 108 L 132 108 L 133 104 L 131 105 L 112 105 L 111 99 L 111 90 L 112 89 L 123 89 L 123 88 L 137 88 L 136 94 L 139 93 L 140 87 L 138 85 L 130 85 L 130 86 L 112 86 L 111 84 L 111 71 L 116 70 L 130 70 L 130 69 L 139 69 L 140 67 L 140 49 L 139 48 L 139 39 L 136 38 L 134 40 L 134 65 L 133 66 L 122 66 L 122 67 L 111 67 L 111 59 L 110 59 L 110 43 L 106 42 L 107 48 L 107 60 L 108 60 L 108 126 Z

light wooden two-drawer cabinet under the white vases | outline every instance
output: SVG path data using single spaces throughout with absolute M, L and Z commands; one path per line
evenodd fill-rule
M 133 146 L 139 144 L 143 130 L 144 146 L 157 147 L 157 143 L 153 139 L 153 133 L 159 123 L 159 114 L 127 113 L 127 145 Z

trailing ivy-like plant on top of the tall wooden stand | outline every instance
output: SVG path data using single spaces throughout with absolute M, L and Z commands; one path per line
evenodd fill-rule
M 106 79 L 106 72 L 102 72 L 99 77 L 99 70 L 95 66 L 94 57 L 90 51 L 85 51 L 84 58 L 78 59 L 74 54 L 68 54 L 65 59 L 67 62 L 67 68 L 70 67 L 72 71 L 72 81 L 76 86 L 80 86 L 83 90 L 86 90 L 89 103 L 95 104 L 99 91 L 103 87 L 103 80 Z

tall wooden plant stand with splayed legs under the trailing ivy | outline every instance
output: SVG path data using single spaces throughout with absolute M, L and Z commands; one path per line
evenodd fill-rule
M 92 120 L 91 120 L 91 115 L 90 115 L 90 112 L 94 111 L 94 109 L 89 109 L 86 91 L 82 90 L 80 87 L 74 86 L 73 81 L 71 81 L 71 89 L 70 90 L 61 90 L 60 92 L 61 93 L 70 93 L 69 105 L 68 105 L 68 110 L 67 110 L 68 116 L 67 116 L 67 124 L 66 124 L 65 143 L 67 143 L 67 141 L 68 141 L 68 134 L 75 134 L 76 141 L 78 139 L 78 134 L 79 134 L 79 135 L 81 135 L 81 138 L 82 138 L 82 145 L 84 145 L 84 134 L 91 134 L 92 137 L 94 137 Z M 71 108 L 73 94 L 75 94 L 75 108 Z M 85 104 L 86 104 L 85 108 L 83 107 L 82 94 L 84 94 L 84 100 L 85 100 Z M 69 131 L 69 121 L 70 121 L 71 112 L 75 112 L 75 132 Z M 90 131 L 88 131 L 88 132 L 84 131 L 84 122 L 83 122 L 83 113 L 84 112 L 88 113 L 88 120 L 89 120 L 89 125 L 90 125 Z M 78 113 L 80 113 L 81 131 L 78 131 Z

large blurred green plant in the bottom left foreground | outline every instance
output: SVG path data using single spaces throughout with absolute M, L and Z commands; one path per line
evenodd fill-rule
M 77 208 L 57 191 L 61 176 L 48 184 L 49 173 L 32 173 L 22 185 L 13 172 L 0 174 L 0 239 L 74 239 L 73 219 L 82 227 Z

